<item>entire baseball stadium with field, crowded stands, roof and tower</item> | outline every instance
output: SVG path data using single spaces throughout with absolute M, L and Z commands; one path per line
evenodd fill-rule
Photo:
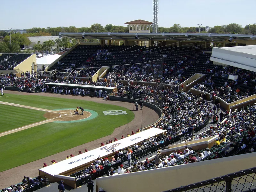
M 124 24 L 0 53 L 2 191 L 255 191 L 256 35 Z

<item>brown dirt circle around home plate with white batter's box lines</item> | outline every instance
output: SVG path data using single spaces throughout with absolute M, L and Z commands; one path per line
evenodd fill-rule
M 46 112 L 44 114 L 44 117 L 47 119 L 53 119 L 55 121 L 76 121 L 81 119 L 86 119 L 90 117 L 92 114 L 88 111 L 84 111 L 84 114 L 81 115 L 81 111 L 79 110 L 79 115 L 75 115 L 73 109 L 67 109 L 67 110 L 59 110 L 56 111 L 58 113 L 52 113 L 52 112 Z

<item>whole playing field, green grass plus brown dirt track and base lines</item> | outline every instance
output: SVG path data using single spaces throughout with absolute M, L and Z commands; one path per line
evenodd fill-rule
M 131 132 L 159 118 L 154 110 L 146 107 L 143 119 L 141 111 L 134 116 L 133 105 L 126 102 L 72 95 L 60 97 L 51 93 L 42 96 L 41 93 L 31 95 L 5 91 L 5 95 L 8 97 L 0 98 L 0 111 L 12 110 L 15 113 L 12 117 L 2 113 L 1 124 L 4 124 L 5 128 L 0 128 L 0 145 L 4 154 L 10 156 L 16 153 L 20 159 L 6 161 L 3 156 L 0 157 L 0 185 L 18 183 L 24 174 L 38 175 L 38 168 L 42 162 L 47 162 L 46 159 L 49 162 L 52 159 L 61 161 L 74 151 L 83 148 L 94 149 L 100 142 L 106 142 L 114 137 L 121 138 L 124 132 Z M 73 115 L 76 106 L 84 108 L 83 116 L 80 115 L 80 109 L 79 115 Z M 125 114 L 104 115 L 103 111 L 124 111 Z M 20 144 L 12 145 L 12 140 Z M 23 143 L 30 146 L 29 150 L 23 147 Z M 42 158 L 44 160 L 40 160 Z M 10 170 L 16 170 L 15 174 Z M 7 173 L 12 175 L 12 179 L 4 176 Z

